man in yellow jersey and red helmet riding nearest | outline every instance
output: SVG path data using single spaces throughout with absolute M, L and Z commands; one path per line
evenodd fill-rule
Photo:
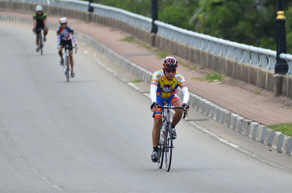
M 189 101 L 189 92 L 185 80 L 183 76 L 176 71 L 178 61 L 174 57 L 167 56 L 164 58 L 162 64 L 164 68 L 153 73 L 150 83 L 150 97 L 152 100 L 150 109 L 152 112 L 156 112 L 152 130 L 153 152 L 151 160 L 153 162 L 158 161 L 158 142 L 162 124 L 162 109 L 157 108 L 157 106 L 163 106 L 163 102 L 166 101 L 168 105 L 183 107 L 183 109 L 173 109 L 175 111 L 171 123 L 173 140 L 177 138 L 175 126 L 181 121 L 183 111 L 186 110 L 188 112 L 189 109 L 189 106 L 186 105 Z M 183 103 L 176 94 L 178 87 L 180 87 L 183 92 Z

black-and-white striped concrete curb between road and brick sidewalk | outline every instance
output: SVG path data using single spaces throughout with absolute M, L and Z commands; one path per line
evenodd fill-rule
M 32 19 L 11 16 L 0 16 L 0 20 L 14 21 L 25 24 L 33 23 Z M 55 30 L 57 26 L 58 24 L 48 23 L 48 27 L 50 29 Z M 110 48 L 102 45 L 89 35 L 75 32 L 75 36 L 78 40 L 85 42 L 94 50 L 108 57 L 112 62 L 114 62 L 114 64 L 130 72 L 144 82 L 150 83 L 152 79 L 152 72 L 145 70 L 123 58 L 121 55 L 113 52 Z M 181 89 L 178 89 L 178 96 L 183 98 Z M 247 138 L 267 145 L 279 152 L 292 155 L 292 138 L 289 136 L 286 136 L 280 132 L 275 132 L 260 123 L 245 119 L 244 117 L 241 117 L 240 115 L 237 115 L 236 113 L 233 113 L 191 92 L 188 105 Z

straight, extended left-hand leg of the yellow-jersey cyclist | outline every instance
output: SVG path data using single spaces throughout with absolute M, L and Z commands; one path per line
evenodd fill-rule
M 163 99 L 160 97 L 157 97 L 157 103 L 159 105 L 163 105 Z M 152 145 L 153 145 L 153 152 L 151 155 L 152 161 L 157 161 L 157 152 L 158 152 L 158 142 L 159 142 L 159 135 L 160 135 L 160 127 L 162 123 L 162 108 L 158 108 L 155 113 L 154 117 L 154 124 L 152 129 Z

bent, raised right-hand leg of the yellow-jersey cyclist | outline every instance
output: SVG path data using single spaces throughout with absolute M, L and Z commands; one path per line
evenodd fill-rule
M 182 107 L 183 103 L 181 99 L 175 94 L 171 99 L 171 105 Z M 181 121 L 183 117 L 183 109 L 173 109 L 173 110 L 175 111 L 175 114 L 172 117 L 171 126 L 172 126 L 172 136 L 173 136 L 172 139 L 174 140 L 177 137 L 175 126 Z

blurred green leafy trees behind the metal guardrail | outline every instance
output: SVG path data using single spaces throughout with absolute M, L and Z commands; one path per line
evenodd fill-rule
M 94 0 L 151 18 L 151 0 Z M 287 46 L 292 51 L 292 0 L 284 0 Z M 277 0 L 158 0 L 159 20 L 183 29 L 276 49 Z

